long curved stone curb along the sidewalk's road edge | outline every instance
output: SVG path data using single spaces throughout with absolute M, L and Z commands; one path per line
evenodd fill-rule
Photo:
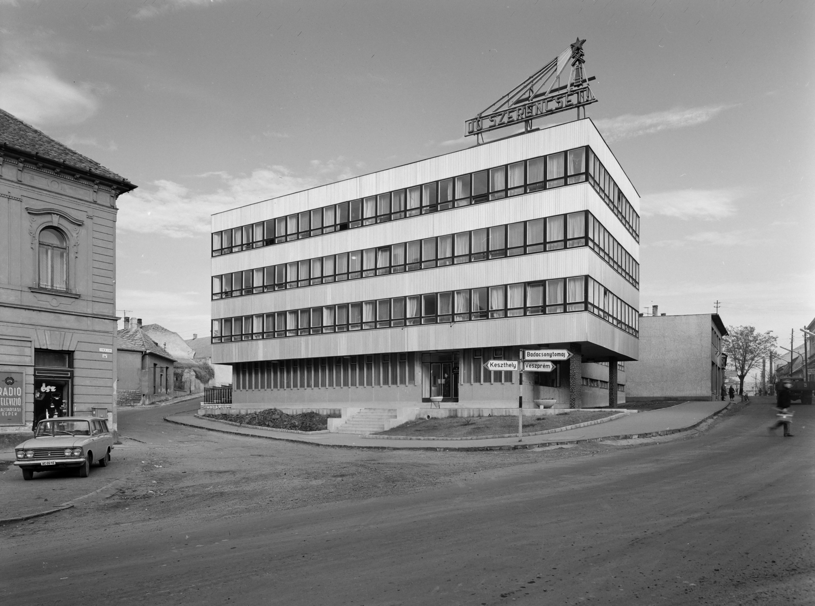
M 621 436 L 602 436 L 599 438 L 585 438 L 584 440 L 561 440 L 561 441 L 546 441 L 546 442 L 537 442 L 535 444 L 510 444 L 510 445 L 501 445 L 501 446 L 461 446 L 461 447 L 449 447 L 449 446 L 407 446 L 403 447 L 407 450 L 435 450 L 437 452 L 471 452 L 476 450 L 523 450 L 523 449 L 533 449 L 538 448 L 539 446 L 552 446 L 552 445 L 562 445 L 562 444 L 588 444 L 590 442 L 602 442 L 604 440 L 632 440 L 636 438 L 650 438 L 655 436 L 670 436 L 675 433 L 681 433 L 682 431 L 690 431 L 692 429 L 696 429 L 704 422 L 711 420 L 723 412 L 729 409 L 734 402 L 726 405 L 725 408 L 716 411 L 713 414 L 707 415 L 707 417 L 703 418 L 701 421 L 695 422 L 693 425 L 689 427 L 678 427 L 676 429 L 663 429 L 662 431 L 647 431 L 644 433 L 634 433 L 634 434 L 623 434 Z M 183 421 L 178 421 L 178 419 L 171 419 L 170 417 L 165 417 L 164 420 L 166 422 L 174 423 L 175 425 L 183 425 L 185 427 L 196 427 L 196 429 L 204 429 L 205 431 L 215 431 L 218 433 L 226 433 L 231 434 L 233 436 L 243 436 L 249 438 L 261 438 L 262 440 L 280 440 L 283 442 L 293 442 L 294 444 L 302 444 L 302 445 L 309 445 L 309 446 L 324 446 L 326 448 L 347 448 L 347 449 L 370 449 L 370 450 L 398 450 L 394 446 L 368 446 L 368 445 L 350 445 L 350 444 L 325 444 L 319 442 L 306 442 L 303 440 L 294 440 L 292 438 L 280 438 L 277 436 L 257 436 L 252 434 L 245 434 L 240 433 L 239 431 L 228 431 L 226 429 L 215 429 L 214 427 L 201 427 L 200 425 L 196 425 L 194 423 L 188 423 Z M 274 430 L 273 430 L 274 431 Z

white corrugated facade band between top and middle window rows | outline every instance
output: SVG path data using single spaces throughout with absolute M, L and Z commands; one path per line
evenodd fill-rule
M 589 210 L 634 259 L 639 259 L 639 244 L 606 206 L 589 184 L 527 193 L 522 196 L 485 202 L 476 206 L 444 210 L 431 215 L 399 219 L 345 232 L 264 246 L 212 259 L 214 275 L 260 268 L 277 263 L 337 254 L 455 232 Z

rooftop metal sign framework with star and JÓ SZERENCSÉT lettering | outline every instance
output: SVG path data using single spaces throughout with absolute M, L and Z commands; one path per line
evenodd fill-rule
M 465 122 L 465 136 L 476 135 L 478 144 L 483 143 L 483 133 L 513 126 L 523 122 L 524 130 L 531 130 L 532 121 L 539 117 L 551 116 L 577 109 L 597 102 L 588 82 L 594 77 L 586 77 L 583 44 L 585 40 L 577 38 L 565 51 L 557 55 L 544 67 L 526 78 L 512 91 L 503 95 L 495 103 Z M 568 77 L 566 69 L 569 69 Z M 565 84 L 562 84 L 565 80 Z M 583 110 L 585 117 L 586 110 Z

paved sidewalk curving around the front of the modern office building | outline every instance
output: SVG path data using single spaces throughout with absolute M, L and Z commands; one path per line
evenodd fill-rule
M 485 440 L 371 440 L 355 434 L 322 433 L 304 436 L 274 429 L 236 427 L 218 421 L 196 418 L 195 413 L 185 412 L 165 417 L 165 421 L 200 427 L 209 431 L 220 431 L 236 436 L 251 436 L 270 440 L 286 440 L 302 444 L 333 446 L 340 448 L 368 449 L 421 449 L 421 450 L 496 450 L 528 449 L 535 446 L 555 444 L 577 444 L 598 440 L 628 440 L 651 436 L 664 436 L 678 431 L 687 431 L 698 426 L 706 418 L 718 413 L 729 402 L 685 402 L 667 409 L 651 410 L 645 413 L 630 414 L 614 421 L 589 427 L 579 427 L 543 436 L 524 436 L 522 440 L 513 438 L 490 438 Z

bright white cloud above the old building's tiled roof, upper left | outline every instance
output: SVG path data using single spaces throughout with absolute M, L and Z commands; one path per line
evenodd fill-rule
M 78 124 L 99 108 L 89 85 L 65 82 L 46 61 L 7 53 L 0 66 L 0 107 L 35 126 Z

